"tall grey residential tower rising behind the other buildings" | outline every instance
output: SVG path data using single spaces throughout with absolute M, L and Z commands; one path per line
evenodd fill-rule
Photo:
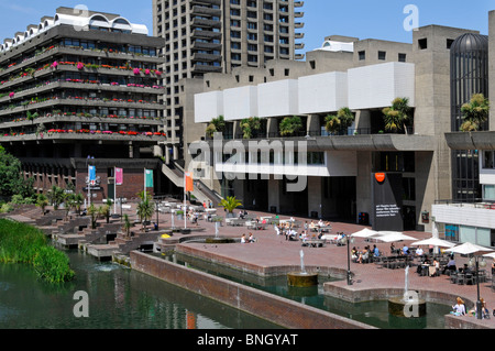
M 167 160 L 182 160 L 182 79 L 272 59 L 302 59 L 304 1 L 153 0 L 154 35 L 165 39 L 163 85 Z

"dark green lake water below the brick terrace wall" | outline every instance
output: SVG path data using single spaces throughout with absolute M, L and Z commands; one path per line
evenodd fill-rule
M 264 329 L 277 326 L 154 277 L 67 252 L 76 278 L 59 286 L 26 265 L 0 265 L 2 329 Z M 89 318 L 76 318 L 74 294 L 88 293 Z

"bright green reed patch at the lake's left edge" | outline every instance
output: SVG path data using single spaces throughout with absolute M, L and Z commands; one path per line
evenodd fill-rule
M 0 263 L 28 263 L 38 277 L 54 284 L 75 275 L 67 255 L 48 245 L 40 229 L 8 219 L 0 219 Z

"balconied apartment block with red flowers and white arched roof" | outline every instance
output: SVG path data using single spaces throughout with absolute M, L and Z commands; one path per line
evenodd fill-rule
M 166 140 L 158 48 L 146 26 L 112 13 L 58 8 L 0 46 L 0 143 L 22 162 L 36 190 L 57 185 L 87 193 L 97 169 L 95 200 L 134 198 L 153 169 L 153 147 Z M 164 182 L 166 183 L 166 182 Z M 153 189 L 150 189 L 153 190 Z

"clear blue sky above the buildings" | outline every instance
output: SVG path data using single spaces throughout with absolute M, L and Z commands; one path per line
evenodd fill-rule
M 411 25 L 439 24 L 488 34 L 488 11 L 494 0 L 304 0 L 300 53 L 318 48 L 328 35 L 411 43 Z M 12 37 L 58 7 L 86 6 L 89 10 L 119 13 L 132 23 L 146 24 L 153 34 L 152 0 L 0 0 L 0 39 Z M 406 8 L 407 6 L 409 8 Z M 405 11 L 407 10 L 407 11 Z M 406 22 L 406 26 L 405 26 Z

